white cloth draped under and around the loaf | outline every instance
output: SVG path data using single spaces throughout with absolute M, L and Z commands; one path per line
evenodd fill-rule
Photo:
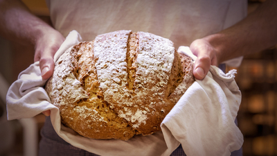
M 77 31 L 66 37 L 63 49 L 80 42 Z M 62 49 L 61 48 L 61 49 Z M 188 47 L 179 51 L 192 53 Z M 63 53 L 58 51 L 56 55 Z M 55 57 L 57 58 L 57 56 Z M 7 94 L 8 119 L 30 118 L 51 110 L 51 123 L 62 139 L 98 155 L 170 155 L 182 144 L 186 155 L 231 155 L 242 146 L 242 133 L 235 125 L 241 94 L 235 71 L 224 74 L 211 67 L 204 80 L 196 80 L 161 123 L 162 132 L 136 136 L 128 141 L 82 137 L 60 122 L 60 112 L 51 104 L 39 70 L 39 62 L 19 74 Z

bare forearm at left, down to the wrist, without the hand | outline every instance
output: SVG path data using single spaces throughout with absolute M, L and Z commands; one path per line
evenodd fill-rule
M 0 34 L 8 40 L 35 46 L 51 26 L 30 13 L 21 1 L 0 0 Z

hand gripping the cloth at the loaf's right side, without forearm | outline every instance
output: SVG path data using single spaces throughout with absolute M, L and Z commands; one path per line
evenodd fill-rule
M 215 48 L 207 40 L 198 39 L 190 44 L 190 51 L 197 56 L 193 67 L 193 75 L 195 78 L 202 80 L 207 75 L 211 65 L 218 65 Z

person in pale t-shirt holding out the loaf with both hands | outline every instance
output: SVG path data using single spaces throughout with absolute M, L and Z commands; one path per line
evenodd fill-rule
M 32 15 L 21 1 L 0 0 L 0 34 L 15 42 L 33 44 L 34 61 L 39 60 L 44 79 L 52 75 L 53 55 L 73 29 L 84 40 L 93 40 L 96 35 L 110 31 L 132 29 L 167 37 L 177 47 L 190 45 L 198 57 L 193 73 L 200 80 L 211 65 L 276 44 L 277 3 L 274 0 L 266 1 L 248 17 L 247 1 L 240 0 L 46 2 L 54 28 Z M 44 114 L 49 116 L 50 111 Z M 87 154 L 72 146 L 69 148 L 66 143 L 57 144 L 62 150 L 48 150 L 55 146 L 53 141 L 62 142 L 52 129 L 46 118 L 40 154 L 57 155 L 66 150 L 71 155 Z M 242 155 L 241 150 L 232 155 Z

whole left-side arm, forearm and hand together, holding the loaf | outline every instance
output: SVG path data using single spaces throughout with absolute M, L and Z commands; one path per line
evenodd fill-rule
M 39 61 L 43 79 L 53 73 L 53 57 L 60 48 L 64 37 L 54 28 L 30 13 L 19 0 L 0 0 L 0 35 L 34 46 L 34 61 Z

